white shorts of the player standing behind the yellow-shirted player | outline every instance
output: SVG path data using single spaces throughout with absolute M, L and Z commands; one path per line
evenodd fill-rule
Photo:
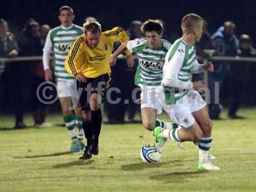
M 79 98 L 76 86 L 76 80 L 57 81 L 58 97 Z

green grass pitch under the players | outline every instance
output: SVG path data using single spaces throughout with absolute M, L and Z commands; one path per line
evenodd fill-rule
M 214 121 L 211 153 L 219 172 L 198 172 L 188 142 L 185 150 L 168 142 L 159 163 L 143 163 L 140 148 L 153 137 L 141 124 L 103 125 L 99 156 L 79 161 L 82 152 L 68 152 L 65 127 L 5 130 L 13 117 L 1 115 L 0 191 L 255 191 L 256 109 L 240 114 L 248 118 Z M 26 123 L 32 124 L 28 116 Z

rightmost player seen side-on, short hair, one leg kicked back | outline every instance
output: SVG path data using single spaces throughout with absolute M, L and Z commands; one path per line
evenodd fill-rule
M 195 14 L 188 14 L 182 19 L 182 38 L 175 41 L 166 54 L 163 81 L 164 110 L 173 122 L 180 125 L 174 129 L 154 129 L 156 140 L 197 141 L 198 169 L 219 170 L 218 166 L 209 161 L 211 147 L 212 122 L 206 107 L 206 102 L 196 90 L 205 88 L 204 81 L 190 81 L 192 73 L 203 70 L 213 71 L 211 62 L 201 65 L 196 60 L 195 43 L 202 35 L 203 19 Z

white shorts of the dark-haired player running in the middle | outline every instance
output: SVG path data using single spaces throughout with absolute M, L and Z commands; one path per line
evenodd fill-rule
M 162 104 L 161 104 L 161 86 L 146 86 L 141 85 L 141 109 L 143 108 L 154 108 L 157 110 L 157 114 L 162 113 Z

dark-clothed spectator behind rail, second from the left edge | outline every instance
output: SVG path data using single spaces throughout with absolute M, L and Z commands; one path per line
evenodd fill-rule
M 18 38 L 19 56 L 41 56 L 42 44 L 40 39 L 40 26 L 38 22 L 29 19 Z M 22 129 L 26 125 L 23 115 L 28 106 L 28 93 L 31 88 L 35 64 L 38 61 L 22 61 L 12 66 L 15 79 L 12 81 L 13 101 L 15 106 L 15 128 Z

